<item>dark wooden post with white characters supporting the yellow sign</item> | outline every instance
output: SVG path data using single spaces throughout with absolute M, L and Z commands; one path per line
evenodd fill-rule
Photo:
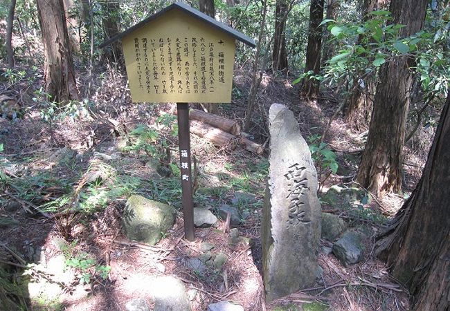
M 178 138 L 180 146 L 181 191 L 183 198 L 184 237 L 194 241 L 194 203 L 190 167 L 189 104 L 177 103 Z

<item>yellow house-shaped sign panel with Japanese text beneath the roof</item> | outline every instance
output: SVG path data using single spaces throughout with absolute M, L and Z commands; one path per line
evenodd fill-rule
M 235 39 L 179 10 L 123 37 L 133 102 L 231 102 Z

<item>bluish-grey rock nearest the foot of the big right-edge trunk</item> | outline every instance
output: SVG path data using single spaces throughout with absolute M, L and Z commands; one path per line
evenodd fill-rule
M 343 265 L 347 266 L 361 261 L 365 248 L 361 234 L 347 231 L 334 243 L 333 254 Z

